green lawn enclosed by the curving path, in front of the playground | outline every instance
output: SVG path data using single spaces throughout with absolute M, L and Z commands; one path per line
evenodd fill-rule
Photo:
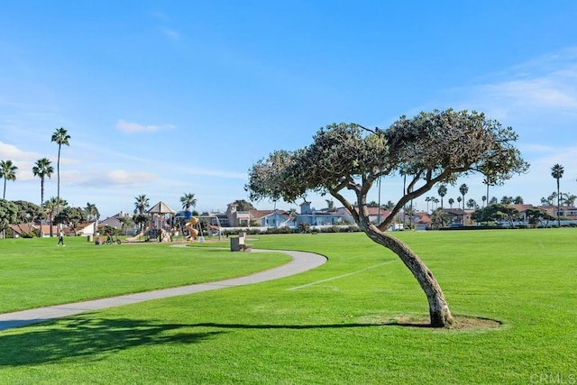
M 84 237 L 2 240 L 0 313 L 247 275 L 285 263 L 275 253 L 230 252 L 226 243 L 88 243 Z M 180 243 L 184 246 L 183 243 Z

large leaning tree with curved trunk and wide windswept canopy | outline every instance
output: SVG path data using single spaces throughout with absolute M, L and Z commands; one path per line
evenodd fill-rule
M 443 290 L 417 253 L 386 229 L 403 206 L 437 183 L 454 184 L 473 172 L 505 180 L 527 171 L 527 162 L 513 145 L 516 141 L 512 128 L 474 111 L 401 116 L 385 130 L 331 124 L 321 128 L 309 146 L 274 151 L 253 164 L 245 189 L 252 201 L 294 202 L 307 192 L 336 198 L 372 241 L 395 252 L 413 273 L 425 291 L 431 325 L 441 327 L 453 324 Z M 379 225 L 371 224 L 367 194 L 380 178 L 401 171 L 408 178 L 402 197 Z

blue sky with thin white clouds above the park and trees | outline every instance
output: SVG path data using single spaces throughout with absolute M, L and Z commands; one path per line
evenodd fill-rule
M 197 210 L 224 211 L 247 199 L 254 162 L 306 146 L 326 124 L 382 128 L 448 107 L 520 135 L 531 169 L 490 196 L 539 204 L 556 188 L 555 163 L 562 190 L 577 194 L 576 15 L 572 0 L 8 2 L 0 160 L 19 170 L 6 198 L 40 204 L 32 165 L 56 167 L 59 127 L 71 136 L 60 165 L 69 204 L 105 217 L 132 212 L 138 195 L 179 209 L 194 193 Z M 481 203 L 481 177 L 461 183 Z M 401 190 L 383 179 L 381 203 Z M 450 187 L 445 199 L 458 196 Z M 326 198 L 308 200 L 320 209 Z

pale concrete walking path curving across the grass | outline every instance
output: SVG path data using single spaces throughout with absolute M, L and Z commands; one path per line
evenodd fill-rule
M 106 307 L 118 307 L 151 299 L 168 298 L 193 294 L 201 291 L 230 288 L 233 286 L 250 285 L 266 280 L 277 280 L 283 277 L 311 270 L 325 263 L 326 258 L 312 252 L 290 252 L 283 250 L 252 250 L 252 252 L 284 252 L 292 257 L 292 261 L 274 269 L 257 272 L 255 274 L 230 280 L 199 283 L 196 285 L 182 286 L 179 288 L 160 289 L 145 291 L 142 293 L 128 294 L 119 297 L 101 298 L 85 302 L 76 302 L 51 307 L 39 307 L 30 310 L 17 311 L 14 313 L 0 314 L 0 331 L 13 327 L 37 324 L 64 316 L 74 316 L 87 311 L 94 311 Z

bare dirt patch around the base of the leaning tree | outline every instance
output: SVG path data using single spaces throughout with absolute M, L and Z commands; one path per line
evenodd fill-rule
M 486 330 L 498 329 L 503 325 L 498 320 L 479 316 L 453 316 L 453 319 L 455 321 L 453 325 L 443 328 L 431 326 L 430 320 L 426 316 L 371 316 L 362 317 L 362 322 L 371 322 L 377 325 L 430 328 L 433 330 Z

